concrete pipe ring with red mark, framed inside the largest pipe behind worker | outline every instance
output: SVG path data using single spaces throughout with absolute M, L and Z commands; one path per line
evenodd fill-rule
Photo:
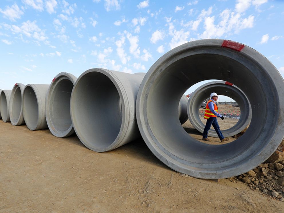
M 240 133 L 244 128 L 246 128 L 247 125 L 249 125 L 249 122 L 251 121 L 251 105 L 249 104 L 249 100 L 246 95 L 237 86 L 226 81 L 209 82 L 198 87 L 193 92 L 188 100 L 187 105 L 188 118 L 192 125 L 198 131 L 203 133 L 205 125 L 202 123 L 199 117 L 200 103 L 210 96 L 212 92 L 216 92 L 218 95 L 225 95 L 233 98 L 240 107 L 240 119 L 233 127 L 222 130 L 224 137 L 230 137 Z M 208 136 L 218 137 L 214 129 L 209 130 Z

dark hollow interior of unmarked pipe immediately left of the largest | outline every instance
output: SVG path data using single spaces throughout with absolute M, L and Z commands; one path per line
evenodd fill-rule
M 105 74 L 88 72 L 77 80 L 72 93 L 72 121 L 81 141 L 91 150 L 111 146 L 123 122 L 124 101 Z

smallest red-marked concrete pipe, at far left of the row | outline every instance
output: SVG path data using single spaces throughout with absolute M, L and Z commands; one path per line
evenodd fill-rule
M 14 126 L 19 126 L 25 123 L 22 111 L 22 97 L 25 85 L 16 83 L 12 89 L 10 98 L 10 120 Z

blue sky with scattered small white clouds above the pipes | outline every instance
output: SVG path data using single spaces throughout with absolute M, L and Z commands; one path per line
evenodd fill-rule
M 0 89 L 90 68 L 147 72 L 167 51 L 206 38 L 246 44 L 284 76 L 283 22 L 281 0 L 1 0 Z

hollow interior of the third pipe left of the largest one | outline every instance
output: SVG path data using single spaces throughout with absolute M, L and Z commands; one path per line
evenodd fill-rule
M 38 125 L 38 100 L 31 86 L 27 86 L 23 92 L 23 114 L 29 129 L 35 129 Z

